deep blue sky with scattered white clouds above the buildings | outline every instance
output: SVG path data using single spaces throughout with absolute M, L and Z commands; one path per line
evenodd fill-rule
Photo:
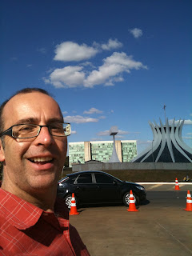
M 69 142 L 153 140 L 148 121 L 185 119 L 192 147 L 192 2 L 2 1 L 1 103 L 24 87 L 54 95 Z

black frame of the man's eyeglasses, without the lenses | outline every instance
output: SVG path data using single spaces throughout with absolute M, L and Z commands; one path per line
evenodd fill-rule
M 62 125 L 70 125 L 70 122 L 58 122 L 59 124 L 62 124 Z M 54 136 L 54 137 L 67 137 L 67 136 L 70 136 L 70 134 L 67 134 L 67 135 L 54 135 L 54 134 L 51 134 L 51 131 L 50 131 L 50 126 L 53 126 L 54 124 L 50 124 L 48 126 L 40 126 L 40 125 L 36 125 L 34 123 L 19 123 L 18 125 L 14 125 L 14 126 L 23 126 L 23 125 L 32 125 L 32 126 L 39 126 L 39 130 L 38 130 L 38 134 L 40 134 L 41 130 L 42 130 L 42 127 L 47 127 L 48 130 L 49 130 L 49 133 L 51 136 Z M 35 137 L 38 137 L 38 134 L 35 135 L 35 136 L 31 136 L 31 137 L 14 137 L 13 135 L 13 127 L 14 126 L 10 126 L 10 128 L 8 128 L 7 130 L 4 130 L 1 134 L 0 134 L 0 138 L 4 135 L 8 135 L 12 138 L 35 138 Z M 70 130 L 71 130 L 71 126 L 70 126 Z

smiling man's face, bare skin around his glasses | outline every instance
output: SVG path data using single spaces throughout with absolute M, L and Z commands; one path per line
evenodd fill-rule
M 58 103 L 39 92 L 11 98 L 2 118 L 4 130 L 22 123 L 49 125 L 63 121 Z M 5 136 L 4 140 L 0 161 L 5 160 L 6 186 L 8 183 L 11 190 L 23 190 L 29 194 L 57 186 L 66 159 L 66 137 L 53 137 L 47 127 L 42 127 L 38 137 L 18 140 Z

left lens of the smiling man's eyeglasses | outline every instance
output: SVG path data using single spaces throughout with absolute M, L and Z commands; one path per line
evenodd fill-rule
M 26 124 L 26 125 L 18 125 L 13 126 L 12 133 L 14 138 L 29 138 L 37 136 L 39 130 L 39 126 Z

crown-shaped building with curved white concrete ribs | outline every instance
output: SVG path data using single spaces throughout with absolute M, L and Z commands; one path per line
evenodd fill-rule
M 166 118 L 163 125 L 149 122 L 154 139 L 146 150 L 138 154 L 132 162 L 190 162 L 192 163 L 192 149 L 182 140 L 182 126 L 184 120 L 170 122 Z

